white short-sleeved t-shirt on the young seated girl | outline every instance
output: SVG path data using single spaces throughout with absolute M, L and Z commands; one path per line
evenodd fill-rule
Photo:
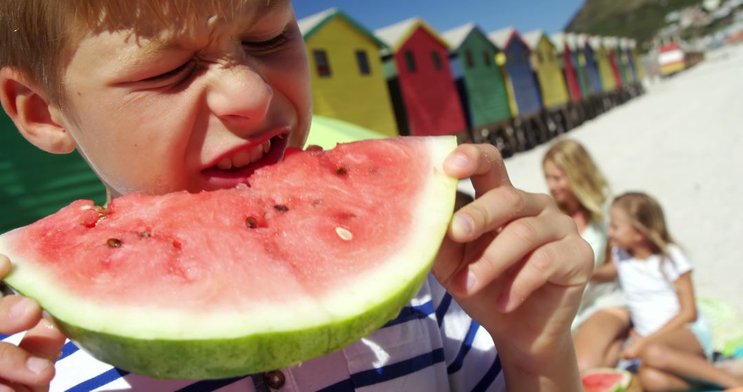
M 624 249 L 611 251 L 619 281 L 629 304 L 632 323 L 640 336 L 663 327 L 681 310 L 673 282 L 692 270 L 692 264 L 678 246 L 669 245 L 669 257 L 637 259 Z

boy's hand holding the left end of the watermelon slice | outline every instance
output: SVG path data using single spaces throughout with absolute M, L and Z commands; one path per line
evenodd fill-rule
M 0 255 L 0 278 L 10 261 Z M 0 298 L 0 333 L 27 331 L 18 346 L 0 342 L 0 391 L 48 391 L 65 336 L 47 319 L 35 301 L 19 295 Z

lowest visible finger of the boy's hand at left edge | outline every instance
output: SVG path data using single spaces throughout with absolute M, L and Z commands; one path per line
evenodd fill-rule
M 0 378 L 22 385 L 49 385 L 54 365 L 48 359 L 31 356 L 13 344 L 0 343 Z

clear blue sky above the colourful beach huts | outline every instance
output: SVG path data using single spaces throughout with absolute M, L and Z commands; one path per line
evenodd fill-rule
M 514 26 L 521 33 L 541 28 L 561 31 L 584 0 L 294 0 L 297 18 L 337 7 L 361 25 L 376 30 L 412 16 L 435 30 L 476 22 L 487 32 Z

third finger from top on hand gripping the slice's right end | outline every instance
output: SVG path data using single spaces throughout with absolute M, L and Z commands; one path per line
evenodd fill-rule
M 458 281 L 466 282 L 463 295 L 477 293 L 506 270 L 514 267 L 534 249 L 553 241 L 559 241 L 568 235 L 567 220 L 564 214 L 546 217 L 528 217 L 513 220 L 493 239 L 481 256 L 467 265 L 461 272 Z M 545 224 L 546 223 L 546 224 Z M 574 223 L 572 223 L 574 225 Z

